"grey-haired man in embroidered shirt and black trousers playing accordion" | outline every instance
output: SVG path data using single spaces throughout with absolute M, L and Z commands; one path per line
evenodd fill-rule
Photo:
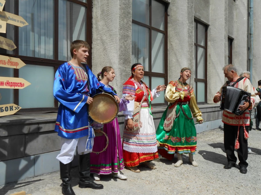
M 233 86 L 233 84 L 235 84 L 235 88 L 251 93 L 250 105 L 249 102 L 244 102 L 243 105 L 239 106 L 240 110 L 245 110 L 242 115 L 238 116 L 224 110 L 222 116 L 222 122 L 224 122 L 224 148 L 228 161 L 224 168 L 231 169 L 232 167 L 235 167 L 237 157 L 235 156 L 234 151 L 237 149 L 240 172 L 247 173 L 247 138 L 249 137 L 248 132 L 250 123 L 249 110 L 252 109 L 252 106 L 255 104 L 256 97 L 249 79 L 243 78 L 240 81 L 237 81 L 240 77 L 238 76 L 237 69 L 233 64 L 226 65 L 223 70 L 228 81 L 215 94 L 213 99 L 214 103 L 218 103 L 221 100 L 222 88 L 224 86 Z

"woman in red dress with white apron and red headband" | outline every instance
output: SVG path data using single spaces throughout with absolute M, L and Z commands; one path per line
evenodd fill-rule
M 140 172 L 137 168 L 139 164 L 155 169 L 149 162 L 159 158 L 157 153 L 156 131 L 151 114 L 150 102 L 159 96 L 160 91 L 164 91 L 165 85 L 159 85 L 152 91 L 141 80 L 144 76 L 144 69 L 141 64 L 133 64 L 132 75 L 123 85 L 123 97 L 128 94 L 136 96 L 135 100 L 127 104 L 125 115 L 126 128 L 123 132 L 123 159 L 125 167 L 133 172 Z M 143 100 L 143 101 L 142 101 Z M 134 105 L 141 103 L 139 112 L 140 121 L 133 121 Z M 140 125 L 138 130 L 134 127 Z

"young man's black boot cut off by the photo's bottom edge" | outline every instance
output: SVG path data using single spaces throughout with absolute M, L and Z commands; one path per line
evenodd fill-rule
M 72 177 L 70 175 L 71 163 L 63 164 L 60 162 L 60 176 L 62 183 L 62 194 L 64 195 L 75 195 L 71 186 Z

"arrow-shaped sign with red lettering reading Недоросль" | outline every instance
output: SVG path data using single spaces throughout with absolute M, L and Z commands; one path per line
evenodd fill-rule
M 31 83 L 22 78 L 0 77 L 0 88 L 23 89 L 29 85 L 31 85 Z

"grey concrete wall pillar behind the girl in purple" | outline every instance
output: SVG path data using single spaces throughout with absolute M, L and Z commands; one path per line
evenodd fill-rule
M 93 73 L 112 66 L 112 85 L 122 96 L 122 84 L 131 76 L 132 1 L 93 1 Z

